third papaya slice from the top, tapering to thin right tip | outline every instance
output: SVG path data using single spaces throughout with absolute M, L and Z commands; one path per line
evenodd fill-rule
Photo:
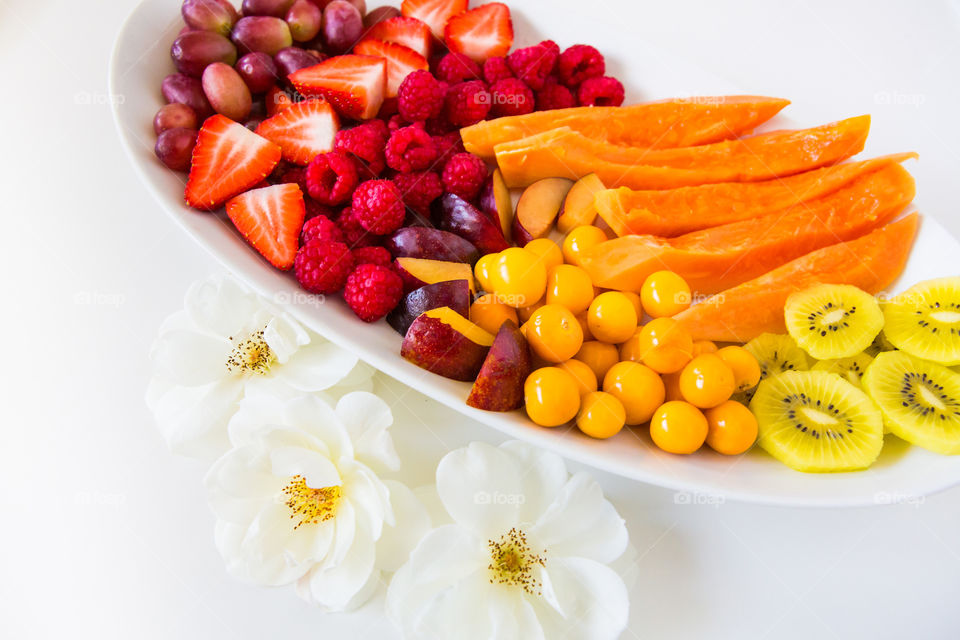
M 620 187 L 597 193 L 594 206 L 618 236 L 638 233 L 672 238 L 816 200 L 862 175 L 916 157 L 916 153 L 899 153 L 763 182 L 721 182 L 662 191 Z

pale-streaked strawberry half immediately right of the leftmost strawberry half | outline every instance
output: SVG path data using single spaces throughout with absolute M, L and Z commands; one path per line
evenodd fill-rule
M 329 102 L 304 100 L 287 107 L 257 126 L 257 133 L 280 145 L 283 159 L 310 164 L 318 154 L 333 150 L 340 119 Z

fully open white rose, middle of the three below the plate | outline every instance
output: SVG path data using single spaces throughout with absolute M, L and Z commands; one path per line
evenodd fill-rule
M 403 484 L 377 396 L 349 393 L 333 409 L 316 396 L 244 399 L 230 421 L 233 448 L 206 477 L 217 548 L 249 583 L 296 583 L 325 611 L 361 605 L 430 526 Z

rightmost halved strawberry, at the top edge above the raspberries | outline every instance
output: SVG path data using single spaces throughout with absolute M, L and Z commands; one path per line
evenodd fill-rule
M 505 56 L 513 45 L 510 8 L 491 2 L 456 15 L 447 22 L 443 40 L 450 51 L 462 53 L 476 62 Z

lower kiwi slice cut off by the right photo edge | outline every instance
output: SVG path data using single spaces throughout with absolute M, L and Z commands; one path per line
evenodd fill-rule
M 960 373 L 889 351 L 867 367 L 863 388 L 894 434 L 930 451 L 960 453 Z

